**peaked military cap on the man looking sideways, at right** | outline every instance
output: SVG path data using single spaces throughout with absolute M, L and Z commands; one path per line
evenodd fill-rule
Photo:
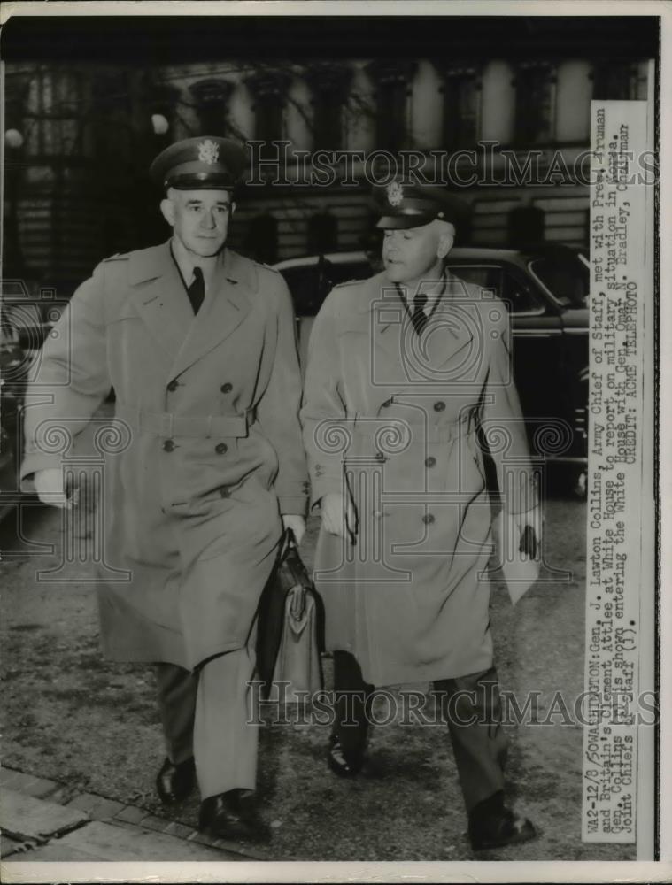
M 390 184 L 376 186 L 374 197 L 381 212 L 375 227 L 383 230 L 421 227 L 435 220 L 450 221 L 459 228 L 469 217 L 467 202 L 443 185 L 395 179 Z

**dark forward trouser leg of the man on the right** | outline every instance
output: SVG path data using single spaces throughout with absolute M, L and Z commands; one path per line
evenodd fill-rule
M 467 812 L 504 789 L 506 734 L 494 667 L 434 683 L 442 693 Z

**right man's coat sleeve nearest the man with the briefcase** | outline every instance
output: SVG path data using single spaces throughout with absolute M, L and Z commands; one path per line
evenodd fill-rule
M 322 304 L 308 342 L 301 423 L 311 475 L 311 506 L 328 492 L 342 492 L 347 410 L 341 387 L 336 337 L 336 297 Z

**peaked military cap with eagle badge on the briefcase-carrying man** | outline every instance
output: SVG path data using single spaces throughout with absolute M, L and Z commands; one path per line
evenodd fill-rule
M 150 166 L 150 176 L 163 188 L 230 190 L 246 163 L 242 144 L 217 135 L 201 135 L 162 150 Z

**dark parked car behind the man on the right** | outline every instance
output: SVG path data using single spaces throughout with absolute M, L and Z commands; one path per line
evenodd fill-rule
M 578 250 L 549 245 L 530 250 L 456 248 L 452 273 L 505 302 L 514 336 L 514 378 L 530 449 L 568 465 L 577 494 L 585 492 L 588 406 L 589 263 Z M 372 253 L 336 252 L 275 265 L 287 281 L 305 366 L 315 314 L 330 289 L 377 271 Z

